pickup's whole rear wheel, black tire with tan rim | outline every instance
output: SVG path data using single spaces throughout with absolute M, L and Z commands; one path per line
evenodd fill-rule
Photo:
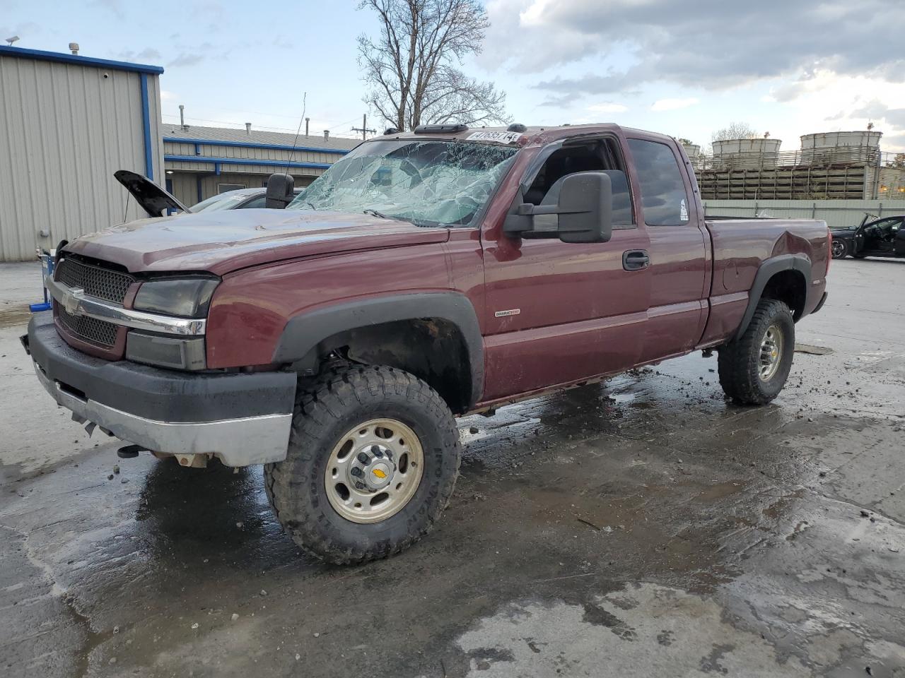
M 745 333 L 719 349 L 719 385 L 740 405 L 764 405 L 783 390 L 794 354 L 792 312 L 761 299 Z

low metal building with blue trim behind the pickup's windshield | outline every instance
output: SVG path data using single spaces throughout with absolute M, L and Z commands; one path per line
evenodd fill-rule
M 361 142 L 228 127 L 161 125 L 167 191 L 186 205 L 237 188 L 263 186 L 288 172 L 307 186 Z

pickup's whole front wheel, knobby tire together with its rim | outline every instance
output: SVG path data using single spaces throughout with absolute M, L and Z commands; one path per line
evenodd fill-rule
M 300 388 L 286 459 L 264 466 L 283 528 L 337 564 L 403 551 L 448 504 L 461 446 L 428 384 L 390 367 L 349 366 Z

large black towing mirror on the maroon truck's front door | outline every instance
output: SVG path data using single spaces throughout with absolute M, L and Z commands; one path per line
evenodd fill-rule
M 558 238 L 563 242 L 606 242 L 613 236 L 613 179 L 615 172 L 567 174 L 550 188 L 556 204 L 520 204 L 510 214 L 503 231 L 514 237 Z M 541 215 L 556 215 L 556 226 Z M 543 223 L 541 223 L 543 222 Z

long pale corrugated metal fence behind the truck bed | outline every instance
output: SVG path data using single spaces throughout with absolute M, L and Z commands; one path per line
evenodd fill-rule
M 822 219 L 830 228 L 857 226 L 864 212 L 878 217 L 905 214 L 905 200 L 705 200 L 707 214 Z

